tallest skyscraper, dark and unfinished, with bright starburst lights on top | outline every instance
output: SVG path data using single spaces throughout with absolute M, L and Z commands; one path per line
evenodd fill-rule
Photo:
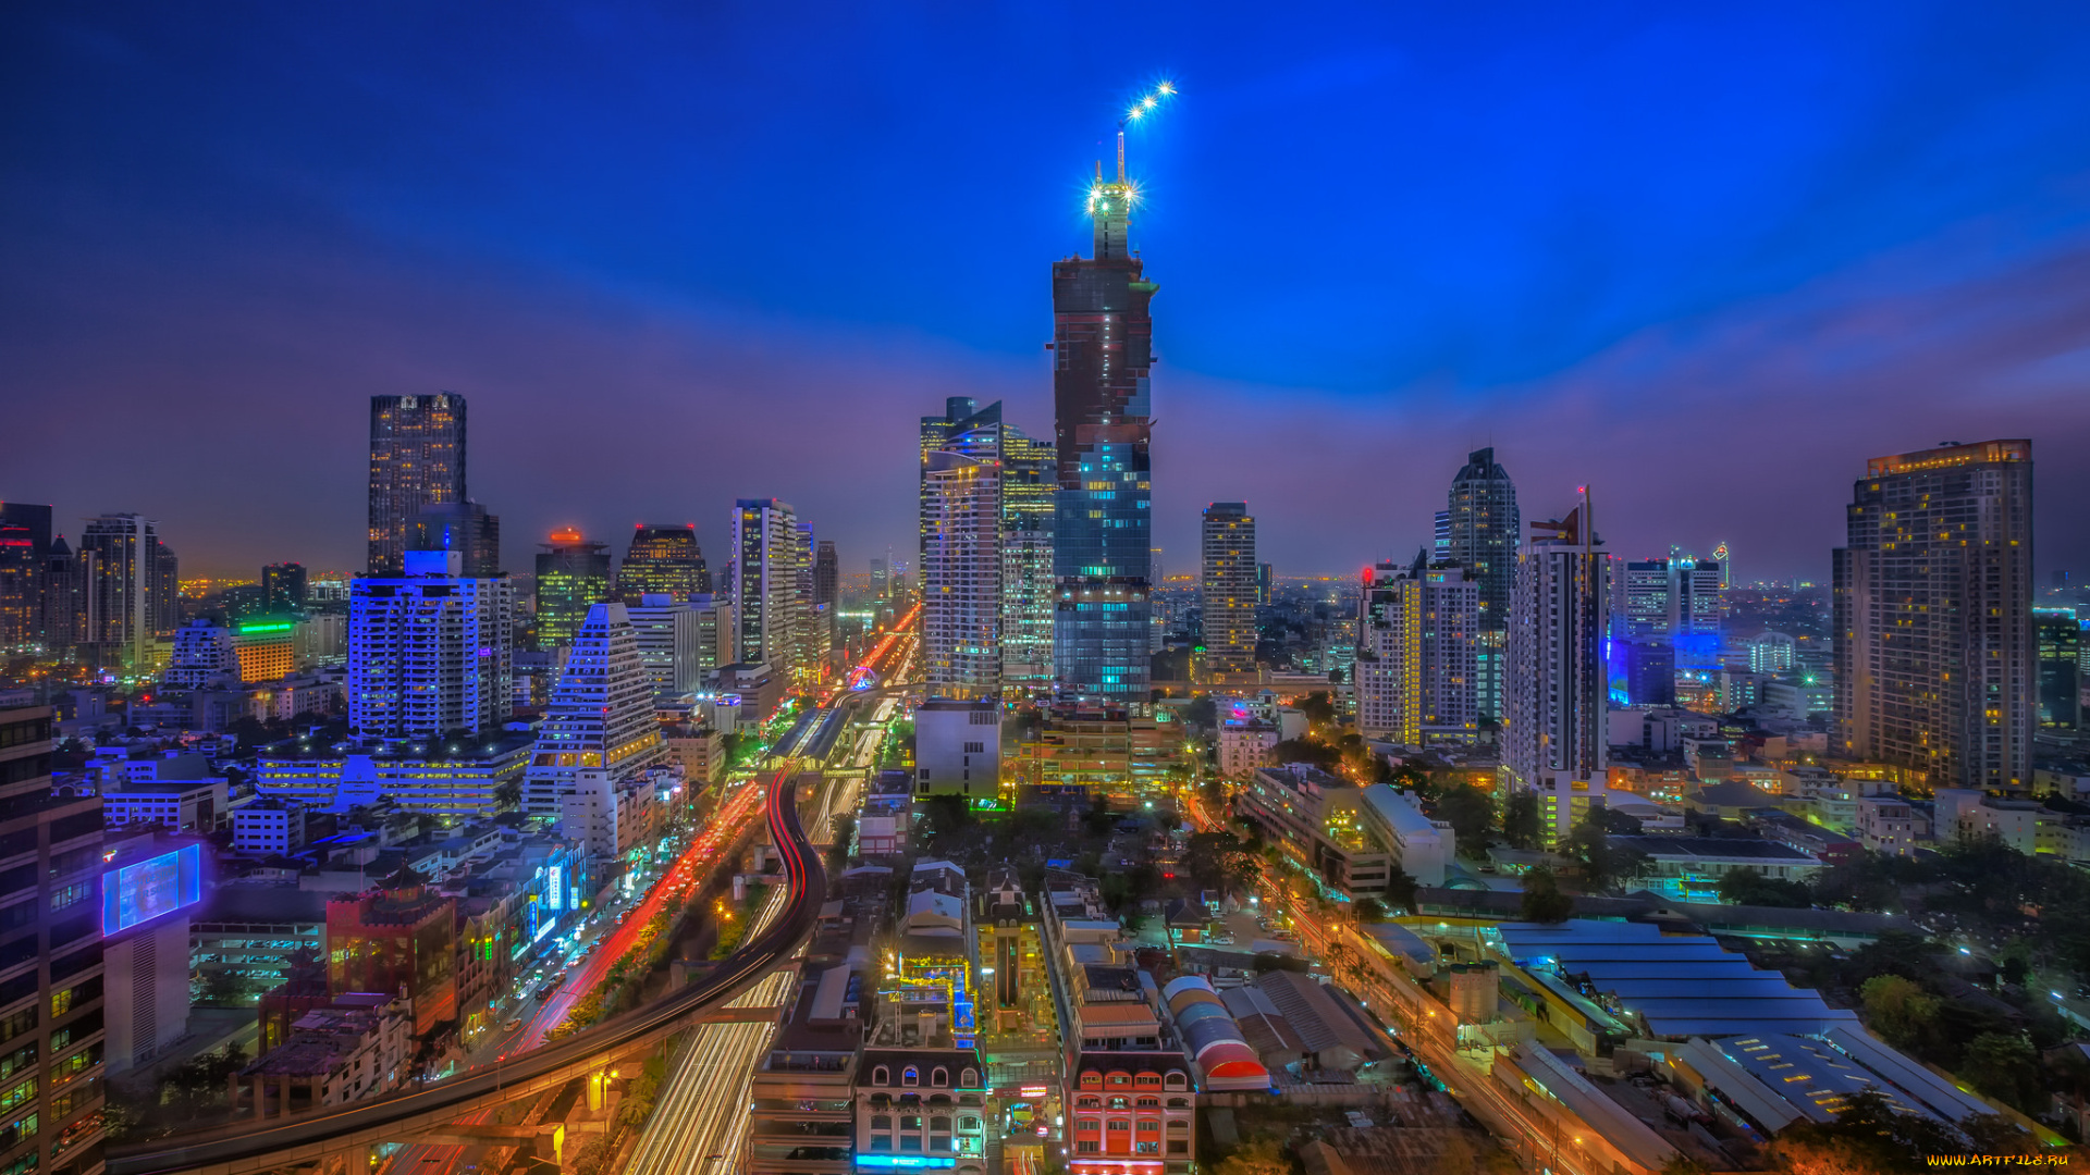
M 1133 255 L 1137 188 L 1095 165 L 1093 257 L 1053 261 L 1053 677 L 1081 696 L 1145 702 L 1152 677 L 1152 408 L 1158 289 Z

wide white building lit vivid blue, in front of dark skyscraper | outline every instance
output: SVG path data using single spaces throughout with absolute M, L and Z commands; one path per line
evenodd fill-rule
M 460 552 L 403 552 L 405 575 L 349 590 L 349 728 L 433 738 L 514 709 L 514 588 L 468 577 Z

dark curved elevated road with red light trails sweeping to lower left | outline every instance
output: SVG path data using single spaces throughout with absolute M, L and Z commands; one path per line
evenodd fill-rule
M 617 1058 L 652 1047 L 702 1012 L 723 1008 L 798 951 L 813 932 L 813 920 L 828 893 L 819 853 L 798 822 L 794 780 L 790 767 L 777 771 L 769 780 L 765 805 L 769 834 L 790 880 L 784 909 L 763 932 L 690 987 L 562 1041 L 433 1085 L 372 1102 L 322 1106 L 291 1116 L 111 1148 L 109 1175 L 249 1175 L 307 1162 L 339 1162 L 378 1144 L 441 1131 L 466 1114 L 558 1089 Z M 355 1162 L 347 1167 L 359 1169 Z

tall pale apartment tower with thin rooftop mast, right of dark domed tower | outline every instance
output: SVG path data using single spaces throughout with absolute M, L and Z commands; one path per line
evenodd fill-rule
M 1605 794 L 1607 560 L 1588 498 L 1557 523 L 1532 523 L 1532 535 L 1517 552 L 1503 771 L 1511 794 L 1538 797 L 1540 830 L 1549 840 L 1568 836 Z

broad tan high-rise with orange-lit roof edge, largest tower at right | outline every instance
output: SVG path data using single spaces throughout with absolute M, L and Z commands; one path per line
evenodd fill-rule
M 1933 788 L 2031 784 L 2031 441 L 1866 462 L 1835 550 L 1837 742 Z

